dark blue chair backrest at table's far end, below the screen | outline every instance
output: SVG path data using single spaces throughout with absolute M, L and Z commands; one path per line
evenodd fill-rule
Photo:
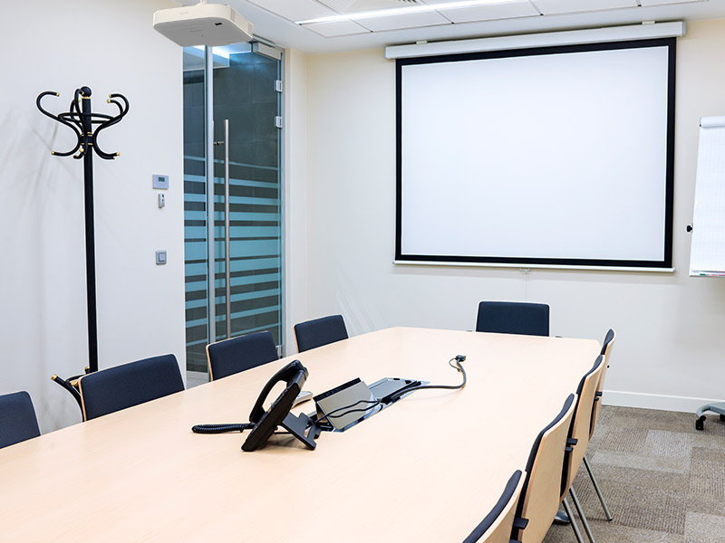
M 549 306 L 546 303 L 482 301 L 478 304 L 477 332 L 549 335 Z

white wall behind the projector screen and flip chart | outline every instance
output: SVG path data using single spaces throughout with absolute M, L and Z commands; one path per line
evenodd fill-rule
M 306 318 L 342 312 L 353 334 L 472 329 L 479 300 L 541 301 L 552 334 L 617 330 L 610 403 L 691 410 L 725 396 L 725 281 L 688 277 L 685 232 L 698 120 L 725 114 L 725 21 L 689 24 L 678 47 L 673 274 L 394 266 L 394 62 L 382 50 L 309 55 L 307 290 L 293 293 Z

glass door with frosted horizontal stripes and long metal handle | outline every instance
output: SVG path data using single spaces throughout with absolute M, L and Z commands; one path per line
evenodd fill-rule
M 283 341 L 282 62 L 264 49 L 184 49 L 190 385 L 206 381 L 208 343 L 260 330 Z

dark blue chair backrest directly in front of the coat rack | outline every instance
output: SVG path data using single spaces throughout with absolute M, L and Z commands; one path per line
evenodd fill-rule
M 83 420 L 121 411 L 184 390 L 174 355 L 144 358 L 78 380 Z

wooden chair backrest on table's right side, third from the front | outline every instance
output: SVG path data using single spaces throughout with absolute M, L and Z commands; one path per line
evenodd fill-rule
M 572 481 L 582 465 L 582 460 L 589 445 L 589 430 L 592 424 L 592 410 L 594 408 L 594 392 L 599 383 L 599 377 L 604 368 L 604 356 L 599 355 L 594 361 L 594 366 L 585 373 L 579 386 L 576 388 L 576 407 L 574 418 L 569 430 L 569 438 L 576 440 L 572 450 L 566 452 L 564 462 L 564 475 L 562 477 L 561 499 L 564 500 L 566 492 L 572 486 Z

